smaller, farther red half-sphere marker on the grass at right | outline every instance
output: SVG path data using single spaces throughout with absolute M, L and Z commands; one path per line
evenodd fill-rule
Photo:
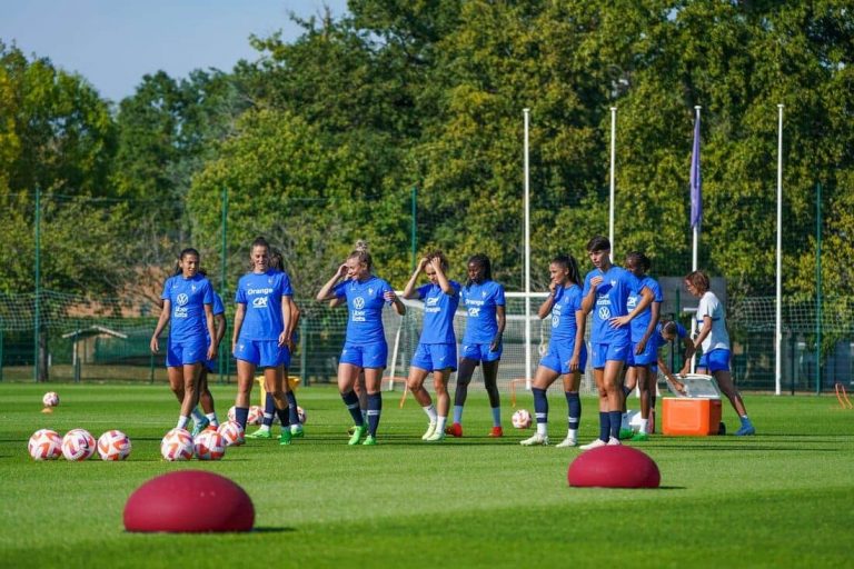
M 620 445 L 582 452 L 569 465 L 566 479 L 576 487 L 658 488 L 662 475 L 652 458 Z

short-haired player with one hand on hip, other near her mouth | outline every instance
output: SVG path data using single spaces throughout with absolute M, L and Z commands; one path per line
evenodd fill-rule
M 610 241 L 596 236 L 587 242 L 587 253 L 595 267 L 584 279 L 583 307 L 593 311 L 590 347 L 593 375 L 599 391 L 599 437 L 582 450 L 619 445 L 623 418 L 623 365 L 632 347 L 627 326 L 653 301 L 653 293 L 640 287 L 637 277 L 610 263 Z M 640 301 L 630 312 L 626 308 L 632 290 L 639 290 Z

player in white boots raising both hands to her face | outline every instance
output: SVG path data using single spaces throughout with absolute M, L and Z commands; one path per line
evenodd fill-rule
M 454 335 L 454 315 L 459 305 L 458 282 L 445 273 L 448 261 L 441 251 L 427 253 L 416 267 L 404 289 L 404 298 L 419 298 L 424 301 L 424 326 L 418 347 L 409 362 L 406 385 L 427 413 L 429 423 L 421 436 L 428 442 L 445 439 L 445 423 L 448 420 L 450 397 L 448 378 L 457 369 L 457 339 Z M 429 283 L 415 288 L 421 271 Z M 430 393 L 424 388 L 424 380 L 433 372 L 438 409 L 434 407 Z

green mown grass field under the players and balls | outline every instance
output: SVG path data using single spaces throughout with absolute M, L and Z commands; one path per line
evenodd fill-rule
M 178 407 L 166 387 L 50 388 L 62 402 L 41 415 L 44 386 L 0 383 L 2 567 L 854 567 L 854 411 L 834 409 L 832 397 L 748 395 L 758 436 L 655 436 L 637 446 L 658 463 L 662 488 L 607 490 L 567 486 L 577 449 L 522 448 L 529 431 L 512 428 L 503 440 L 480 437 L 490 425 L 481 393 L 466 407 L 461 439 L 421 442 L 421 410 L 387 397 L 380 445 L 350 448 L 337 392 L 301 389 L 306 439 L 169 463 L 159 441 Z M 215 388 L 220 415 L 232 395 Z M 565 403 L 550 395 L 559 440 Z M 587 441 L 597 417 L 592 399 L 584 405 Z M 529 396 L 519 406 L 532 409 Z M 724 420 L 735 430 L 728 407 Z M 133 450 L 119 463 L 34 462 L 27 440 L 43 427 L 121 429 Z M 187 468 L 242 486 L 256 530 L 125 532 L 130 493 Z

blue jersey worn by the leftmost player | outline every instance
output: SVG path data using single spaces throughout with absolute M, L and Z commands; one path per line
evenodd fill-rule
M 205 305 L 214 303 L 214 287 L 201 274 L 185 279 L 182 274 L 170 277 L 163 283 L 160 298 L 171 303 L 169 338 L 183 341 L 203 338 L 208 323 Z

